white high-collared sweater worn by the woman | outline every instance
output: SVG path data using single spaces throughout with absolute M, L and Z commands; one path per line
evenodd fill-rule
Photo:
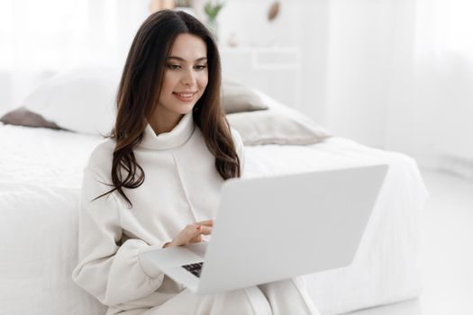
M 232 130 L 243 165 L 243 144 Z M 137 162 L 144 183 L 125 189 L 132 209 L 116 192 L 92 201 L 111 189 L 115 142 L 106 139 L 92 153 L 84 170 L 79 214 L 79 264 L 74 281 L 100 302 L 107 314 L 135 314 L 168 301 L 183 287 L 139 254 L 162 247 L 187 224 L 214 219 L 223 178 L 201 130 L 186 114 L 168 133 L 156 136 L 150 125 L 138 148 Z

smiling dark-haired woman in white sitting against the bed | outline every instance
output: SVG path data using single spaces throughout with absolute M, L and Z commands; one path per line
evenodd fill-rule
M 200 296 L 140 260 L 151 247 L 212 233 L 243 145 L 221 105 L 220 58 L 205 26 L 160 11 L 141 25 L 123 69 L 110 139 L 84 171 L 73 279 L 107 314 L 314 314 L 298 279 Z M 244 232 L 244 222 L 241 225 Z

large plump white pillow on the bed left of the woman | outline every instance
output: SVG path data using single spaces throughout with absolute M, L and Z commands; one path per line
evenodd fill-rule
M 70 69 L 34 90 L 23 106 L 61 128 L 105 135 L 114 126 L 119 81 L 114 68 Z

